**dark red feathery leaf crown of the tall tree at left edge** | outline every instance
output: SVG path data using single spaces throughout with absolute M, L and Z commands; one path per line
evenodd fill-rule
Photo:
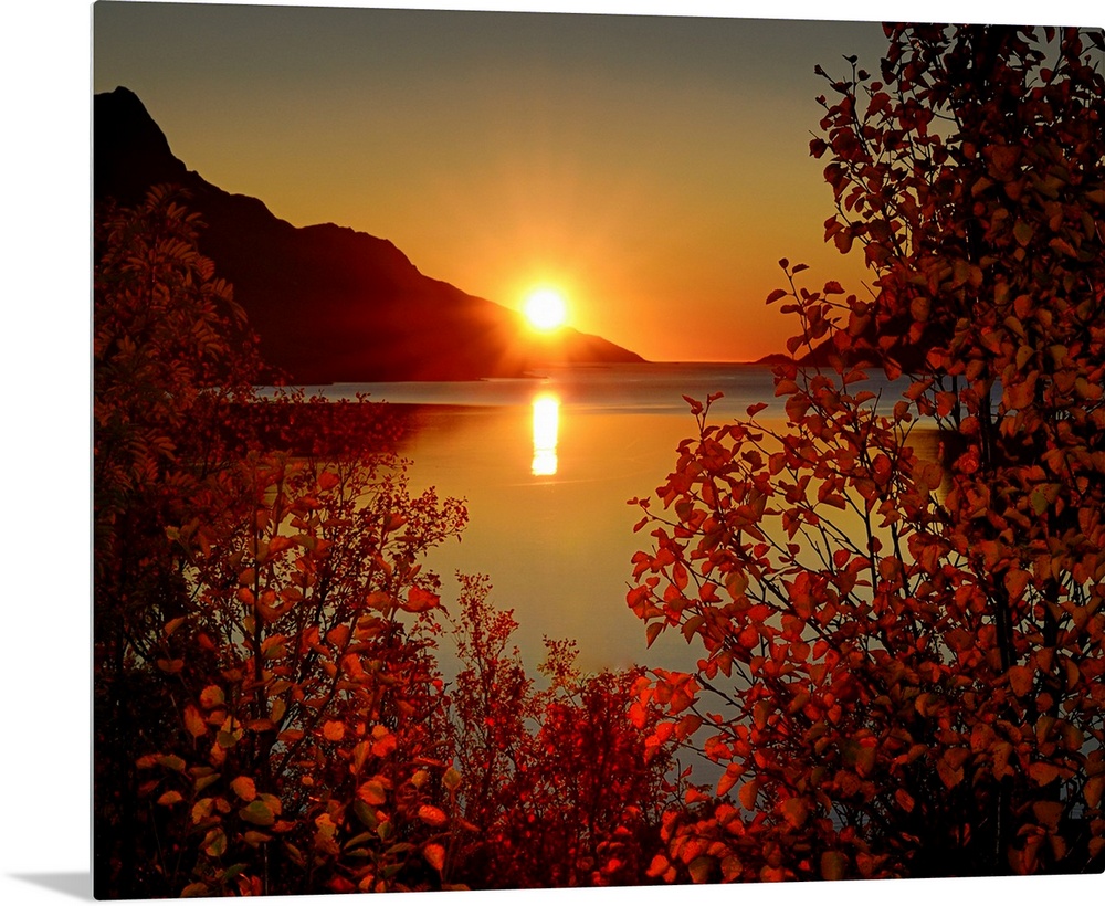
M 218 412 L 249 393 L 253 339 L 230 287 L 196 250 L 198 222 L 159 188 L 135 211 L 97 212 L 94 280 L 94 492 L 101 656 L 118 663 L 148 607 L 122 586 L 154 586 L 161 526 L 223 457 Z M 97 603 L 99 599 L 97 599 Z M 172 614 L 175 615 L 175 614 Z

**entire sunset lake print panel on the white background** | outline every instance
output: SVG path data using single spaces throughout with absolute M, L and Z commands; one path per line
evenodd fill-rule
M 98 898 L 1102 872 L 1101 30 L 93 48 Z

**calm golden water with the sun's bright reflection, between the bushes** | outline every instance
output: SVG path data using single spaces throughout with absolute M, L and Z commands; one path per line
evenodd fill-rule
M 722 391 L 718 420 L 770 403 L 781 415 L 770 369 L 749 365 L 625 365 L 555 369 L 544 379 L 456 383 L 337 384 L 332 398 L 358 391 L 412 404 L 403 455 L 412 489 L 435 485 L 467 502 L 460 542 L 432 552 L 444 601 L 454 572 L 486 575 L 494 603 L 513 609 L 515 641 L 529 668 L 543 638 L 573 639 L 586 670 L 630 664 L 692 667 L 702 652 L 677 632 L 651 650 L 625 604 L 633 554 L 649 547 L 633 533 L 631 497 L 654 496 L 675 464 L 675 447 L 695 421 L 683 394 Z M 448 656 L 444 659 L 449 666 Z

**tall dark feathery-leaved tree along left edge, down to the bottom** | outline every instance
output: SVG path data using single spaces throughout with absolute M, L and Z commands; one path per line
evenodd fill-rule
M 97 892 L 122 895 L 146 871 L 130 746 L 168 706 L 138 665 L 185 607 L 165 526 L 224 460 L 221 412 L 249 398 L 257 367 L 230 287 L 196 250 L 199 229 L 164 187 L 95 218 L 94 863 Z

